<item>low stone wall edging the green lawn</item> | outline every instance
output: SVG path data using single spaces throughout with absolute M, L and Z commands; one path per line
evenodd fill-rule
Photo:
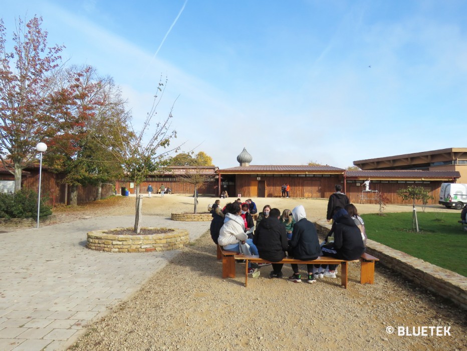
M 317 221 L 315 226 L 321 235 L 326 235 L 331 229 L 325 220 Z M 464 276 L 370 239 L 367 240 L 366 252 L 379 258 L 382 265 L 467 309 L 467 278 Z

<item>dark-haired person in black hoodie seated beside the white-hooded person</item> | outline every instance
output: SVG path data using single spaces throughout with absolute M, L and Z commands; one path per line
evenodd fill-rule
M 261 258 L 271 262 L 281 261 L 286 255 L 287 233 L 284 225 L 279 221 L 281 211 L 271 209 L 269 217 L 263 219 L 255 231 L 253 243 L 258 248 Z M 271 278 L 282 278 L 282 263 L 273 263 Z

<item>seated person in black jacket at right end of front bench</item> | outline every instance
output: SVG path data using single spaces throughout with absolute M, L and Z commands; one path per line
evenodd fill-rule
M 346 210 L 339 210 L 335 215 L 334 242 L 323 246 L 324 255 L 352 261 L 360 258 L 365 252 L 360 229 Z M 335 278 L 336 265 L 329 265 L 329 272 L 325 276 Z

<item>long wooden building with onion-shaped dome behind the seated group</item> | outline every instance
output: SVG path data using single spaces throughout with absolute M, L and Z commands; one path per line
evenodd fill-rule
M 292 198 L 327 199 L 340 184 L 352 203 L 375 203 L 377 195 L 384 194 L 389 204 L 406 204 L 397 190 L 412 185 L 428 190 L 433 197 L 430 204 L 437 204 L 441 184 L 460 178 L 458 170 L 450 169 L 348 171 L 328 165 L 251 165 L 252 159 L 244 148 L 237 156 L 240 166 L 217 170 L 218 194 L 225 190 L 230 197 L 281 197 L 282 185 L 288 184 Z M 370 191 L 364 192 L 363 182 L 368 179 Z

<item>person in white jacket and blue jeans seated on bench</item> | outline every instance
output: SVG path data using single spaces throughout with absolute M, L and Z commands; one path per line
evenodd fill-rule
M 224 217 L 224 224 L 219 231 L 219 238 L 217 243 L 223 247 L 224 250 L 240 252 L 240 243 L 247 243 L 249 245 L 250 254 L 258 255 L 258 249 L 253 244 L 252 239 L 248 239 L 248 235 L 245 233 L 245 220 L 242 218 L 241 204 L 234 202 L 227 204 L 227 213 Z M 256 271 L 257 264 L 254 264 L 249 273 Z M 249 267 L 252 265 L 249 263 Z

